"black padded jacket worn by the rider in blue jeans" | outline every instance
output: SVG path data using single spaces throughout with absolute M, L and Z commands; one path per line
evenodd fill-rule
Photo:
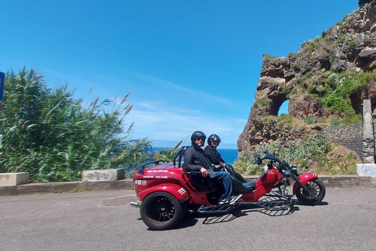
M 211 164 L 206 158 L 204 150 L 200 147 L 190 146 L 186 152 L 184 152 L 183 168 L 187 171 L 200 172 L 201 168 L 206 170 L 211 169 Z

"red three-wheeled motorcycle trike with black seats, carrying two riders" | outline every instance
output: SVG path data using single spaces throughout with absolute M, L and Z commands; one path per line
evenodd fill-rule
M 289 179 L 295 181 L 293 195 L 308 205 L 316 205 L 324 199 L 325 186 L 316 174 L 298 175 L 297 165 L 289 165 L 266 150 L 261 158 L 254 153 L 255 163 L 269 160 L 266 171 L 256 182 L 247 182 L 231 165 L 225 170 L 232 176 L 233 192 L 242 194 L 241 201 L 218 204 L 220 186 L 203 178 L 200 172 L 186 172 L 182 158 L 188 147 L 182 147 L 173 163 L 156 160 L 137 166 L 133 176 L 139 201 L 131 206 L 140 207 L 142 221 L 153 230 L 165 230 L 175 226 L 187 210 L 202 214 L 228 213 L 244 205 L 255 205 L 271 211 L 293 210 L 294 200 L 287 194 Z M 272 190 L 274 189 L 274 190 Z M 277 198 L 273 201 L 258 201 L 261 197 Z

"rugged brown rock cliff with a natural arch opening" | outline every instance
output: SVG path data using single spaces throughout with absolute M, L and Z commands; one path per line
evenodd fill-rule
M 365 4 L 369 1 L 359 1 Z M 277 58 L 265 55 L 248 123 L 237 141 L 239 156 L 251 153 L 265 141 L 281 139 L 258 126 L 261 116 L 277 116 L 282 103 L 289 100 L 289 115 L 304 119 L 336 117 L 320 100 L 328 88 L 330 74 L 371 72 L 376 69 L 376 0 L 347 15 L 322 37 L 305 42 L 298 53 Z M 337 86 L 338 87 L 338 86 Z M 331 87 L 331 88 L 337 88 Z M 376 84 L 369 83 L 350 96 L 351 106 L 360 113 L 363 99 L 376 106 Z M 270 130 L 275 130 L 270 129 Z M 300 136 L 297 135 L 299 138 Z

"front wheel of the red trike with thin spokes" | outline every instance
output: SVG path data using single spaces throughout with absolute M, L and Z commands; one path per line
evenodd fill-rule
M 296 191 L 296 198 L 306 205 L 317 205 L 325 197 L 325 185 L 321 179 L 308 180 L 305 186 L 314 192 L 313 196 L 309 196 L 303 188 L 298 187 Z

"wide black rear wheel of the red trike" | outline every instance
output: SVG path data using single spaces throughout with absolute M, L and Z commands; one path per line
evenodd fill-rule
M 166 230 L 175 226 L 187 211 L 171 194 L 155 192 L 148 195 L 141 203 L 141 219 L 152 230 Z

